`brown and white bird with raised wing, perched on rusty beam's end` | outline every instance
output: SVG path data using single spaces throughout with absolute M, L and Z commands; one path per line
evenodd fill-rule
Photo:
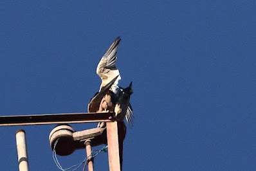
M 129 125 L 133 125 L 133 109 L 129 102 L 133 94 L 132 83 L 125 89 L 120 87 L 118 80 L 121 76 L 115 66 L 120 40 L 120 37 L 114 40 L 96 67 L 96 73 L 100 76 L 102 83 L 100 91 L 89 102 L 88 112 L 114 112 L 118 122 L 123 122 L 126 118 Z M 104 127 L 101 124 L 98 127 Z

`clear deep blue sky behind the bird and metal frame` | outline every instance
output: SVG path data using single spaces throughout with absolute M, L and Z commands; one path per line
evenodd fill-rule
M 255 170 L 255 9 L 246 0 L 3 0 L 1 115 L 86 112 L 100 85 L 96 65 L 121 36 L 119 83 L 133 81 L 136 114 L 123 170 Z M 53 127 L 0 127 L 1 170 L 17 170 L 17 129 L 27 134 L 30 170 L 59 170 Z M 67 168 L 85 155 L 59 161 Z M 95 170 L 107 169 L 99 154 Z

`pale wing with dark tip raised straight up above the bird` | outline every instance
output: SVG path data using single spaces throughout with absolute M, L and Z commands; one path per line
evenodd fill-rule
M 117 37 L 116 40 L 114 40 L 114 42 L 111 44 L 109 49 L 107 49 L 106 53 L 98 63 L 96 73 L 102 79 L 102 84 L 100 85 L 100 87 L 103 87 L 104 85 L 108 84 L 111 80 L 113 80 L 113 78 L 115 78 L 118 75 L 119 76 L 114 82 L 114 85 L 117 85 L 118 80 L 121 79 L 120 73 L 115 66 L 117 58 L 116 51 L 118 49 L 120 40 L 120 37 Z

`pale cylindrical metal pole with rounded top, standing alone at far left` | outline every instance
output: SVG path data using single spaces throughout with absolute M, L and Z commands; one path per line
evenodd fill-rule
M 19 170 L 28 171 L 28 155 L 26 152 L 26 136 L 23 129 L 19 129 L 16 132 L 16 143 L 17 143 L 17 153 L 19 161 Z

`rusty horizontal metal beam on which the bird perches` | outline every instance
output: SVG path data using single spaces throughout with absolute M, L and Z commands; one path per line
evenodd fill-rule
M 113 122 L 114 113 L 58 113 L 0 116 L 0 126 Z

